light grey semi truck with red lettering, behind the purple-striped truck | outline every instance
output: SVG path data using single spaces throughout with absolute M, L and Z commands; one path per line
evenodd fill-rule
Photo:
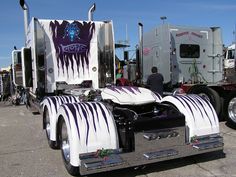
M 143 82 L 151 67 L 157 66 L 166 91 L 182 88 L 204 96 L 220 118 L 226 117 L 236 126 L 234 61 L 224 58 L 219 27 L 163 24 L 143 35 Z

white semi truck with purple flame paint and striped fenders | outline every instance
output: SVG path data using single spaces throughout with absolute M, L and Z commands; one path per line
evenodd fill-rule
M 223 150 L 207 100 L 115 86 L 111 21 L 32 18 L 28 24 L 28 6 L 20 4 L 26 45 L 15 52 L 21 53 L 28 104 L 38 105 L 49 145 L 61 149 L 71 175 Z

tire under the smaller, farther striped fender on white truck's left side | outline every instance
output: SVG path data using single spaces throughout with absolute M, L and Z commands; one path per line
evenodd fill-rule
M 48 127 L 47 127 L 48 126 L 47 125 L 48 124 L 47 123 L 47 116 L 49 118 L 48 109 L 47 109 L 47 107 L 45 107 L 44 112 L 43 112 L 43 122 L 44 122 L 43 128 L 45 129 L 46 137 L 48 140 L 48 145 L 52 149 L 59 149 L 59 145 L 57 144 L 57 142 L 50 140 L 50 132 L 49 132 L 50 130 L 48 130 Z

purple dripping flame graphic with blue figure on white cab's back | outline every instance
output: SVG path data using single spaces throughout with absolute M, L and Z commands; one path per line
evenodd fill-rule
M 72 23 L 63 21 L 59 24 L 55 20 L 50 22 L 50 29 L 56 50 L 57 67 L 62 67 L 63 74 L 66 68 L 68 75 L 69 64 L 71 64 L 74 74 L 73 60 L 75 60 L 78 74 L 80 65 L 82 65 L 84 73 L 85 67 L 89 67 L 90 41 L 95 31 L 95 24 L 93 22 L 80 23 L 78 21 Z

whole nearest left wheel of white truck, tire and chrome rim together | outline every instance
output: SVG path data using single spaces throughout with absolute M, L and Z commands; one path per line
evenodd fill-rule
M 68 173 L 72 176 L 78 176 L 79 167 L 72 166 L 70 164 L 70 142 L 67 132 L 66 123 L 63 117 L 59 120 L 59 143 L 61 148 L 61 155 Z

